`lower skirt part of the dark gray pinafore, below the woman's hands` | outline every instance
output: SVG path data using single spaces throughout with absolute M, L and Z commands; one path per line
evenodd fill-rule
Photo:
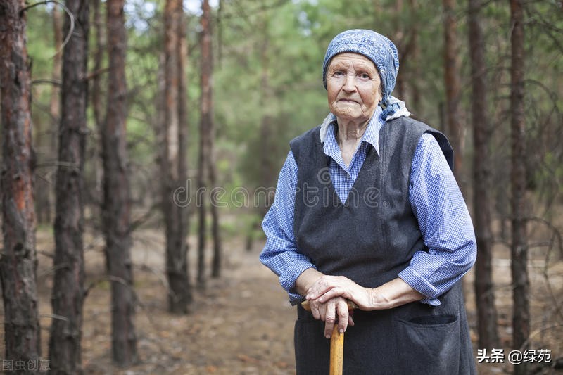
M 353 313 L 344 335 L 344 374 L 475 374 L 461 284 L 440 306 L 408 303 L 391 310 Z M 298 375 L 329 373 L 330 340 L 324 322 L 298 306 L 295 324 Z

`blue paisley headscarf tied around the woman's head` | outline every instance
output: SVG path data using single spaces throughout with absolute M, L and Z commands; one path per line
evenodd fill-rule
M 391 96 L 399 72 L 397 47 L 391 40 L 372 30 L 353 29 L 336 35 L 329 44 L 322 63 L 322 83 L 327 88 L 327 68 L 331 58 L 339 53 L 353 52 L 373 61 L 381 77 L 381 101 L 383 118 L 391 119 L 398 115 L 410 115 L 405 102 Z

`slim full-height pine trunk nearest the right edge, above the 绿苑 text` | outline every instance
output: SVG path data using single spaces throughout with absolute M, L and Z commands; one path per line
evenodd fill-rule
M 528 243 L 526 234 L 526 134 L 524 122 L 524 11 L 520 0 L 510 1 L 512 58 L 510 113 L 512 138 L 512 340 L 513 348 L 526 349 L 530 334 Z M 514 366 L 514 374 L 527 374 L 528 366 Z

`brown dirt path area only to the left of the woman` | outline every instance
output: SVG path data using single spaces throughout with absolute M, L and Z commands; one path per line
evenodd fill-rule
M 260 243 L 251 252 L 242 243 L 227 243 L 221 279 L 209 279 L 186 316 L 168 314 L 163 269 L 163 239 L 158 231 L 135 234 L 132 250 L 139 295 L 136 329 L 139 364 L 117 369 L 110 362 L 110 290 L 103 279 L 101 241 L 87 239 L 87 284 L 96 283 L 84 303 L 85 374 L 295 374 L 294 310 L 277 277 L 258 262 Z M 50 251 L 48 235 L 38 243 Z M 195 249 L 195 246 L 192 247 Z M 192 250 L 191 253 L 195 251 Z M 51 314 L 49 260 L 40 257 L 40 310 Z M 195 265 L 191 259 L 191 265 Z M 43 341 L 49 336 L 42 319 Z M 44 345 L 44 357 L 47 348 Z

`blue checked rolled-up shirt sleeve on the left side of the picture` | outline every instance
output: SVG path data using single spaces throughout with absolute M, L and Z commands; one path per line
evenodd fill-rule
M 279 284 L 288 292 L 292 305 L 304 300 L 294 290 L 296 279 L 305 269 L 315 268 L 298 251 L 293 235 L 297 172 L 297 163 L 289 151 L 279 172 L 274 203 L 262 221 L 266 244 L 260 253 L 260 262 L 279 276 Z

